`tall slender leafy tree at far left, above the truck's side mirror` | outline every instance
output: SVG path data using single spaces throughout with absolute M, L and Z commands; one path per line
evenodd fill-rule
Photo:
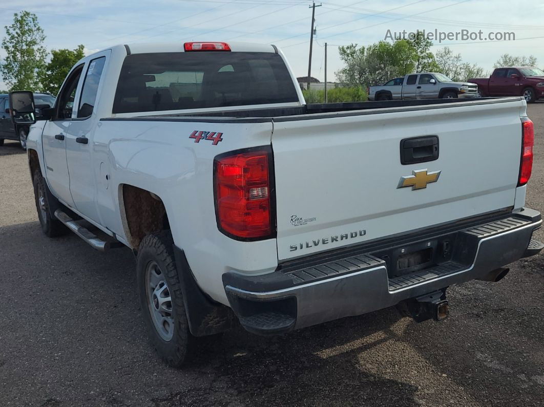
M 2 48 L 6 54 L 0 74 L 10 90 L 40 90 L 39 78 L 45 68 L 47 51 L 42 45 L 44 30 L 38 17 L 28 11 L 15 13 L 13 24 L 5 26 Z

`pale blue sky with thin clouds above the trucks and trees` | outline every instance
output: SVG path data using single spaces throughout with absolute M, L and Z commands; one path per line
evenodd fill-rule
M 10 0 L 0 6 L 2 36 L 13 13 L 38 15 L 48 50 L 85 46 L 86 53 L 118 43 L 244 41 L 273 43 L 283 49 L 296 76 L 305 76 L 310 44 L 310 1 L 301 0 Z M 472 43 L 435 41 L 432 51 L 448 45 L 466 62 L 491 70 L 503 53 L 533 54 L 544 67 L 542 0 L 332 0 L 318 2 L 312 76 L 324 78 L 324 43 L 328 42 L 327 79 L 341 67 L 338 45 L 368 45 L 387 30 L 456 32 L 467 29 L 513 32 L 516 41 Z M 533 37 L 540 37 L 528 39 Z M 524 40 L 526 39 L 526 40 Z M 451 45 L 450 45 L 451 44 Z M 4 55 L 0 50 L 0 58 Z M 0 78 L 1 79 L 1 78 Z M 0 82 L 0 89 L 5 88 Z

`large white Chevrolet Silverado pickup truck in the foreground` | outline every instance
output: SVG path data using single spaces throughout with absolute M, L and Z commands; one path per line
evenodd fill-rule
M 10 94 L 43 231 L 132 249 L 170 365 L 238 322 L 441 320 L 448 286 L 543 247 L 520 97 L 306 105 L 275 46 L 218 42 L 111 47 L 32 104 Z

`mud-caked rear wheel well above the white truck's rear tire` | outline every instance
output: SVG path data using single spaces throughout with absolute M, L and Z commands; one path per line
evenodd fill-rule
M 137 249 L 144 236 L 169 230 L 163 201 L 154 193 L 132 185 L 121 185 L 121 216 L 127 240 Z

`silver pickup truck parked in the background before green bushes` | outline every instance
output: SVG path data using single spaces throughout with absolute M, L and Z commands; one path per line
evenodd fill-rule
M 474 83 L 453 82 L 442 73 L 413 73 L 404 78 L 391 79 L 381 86 L 369 86 L 369 101 L 406 99 L 455 99 L 478 97 Z

